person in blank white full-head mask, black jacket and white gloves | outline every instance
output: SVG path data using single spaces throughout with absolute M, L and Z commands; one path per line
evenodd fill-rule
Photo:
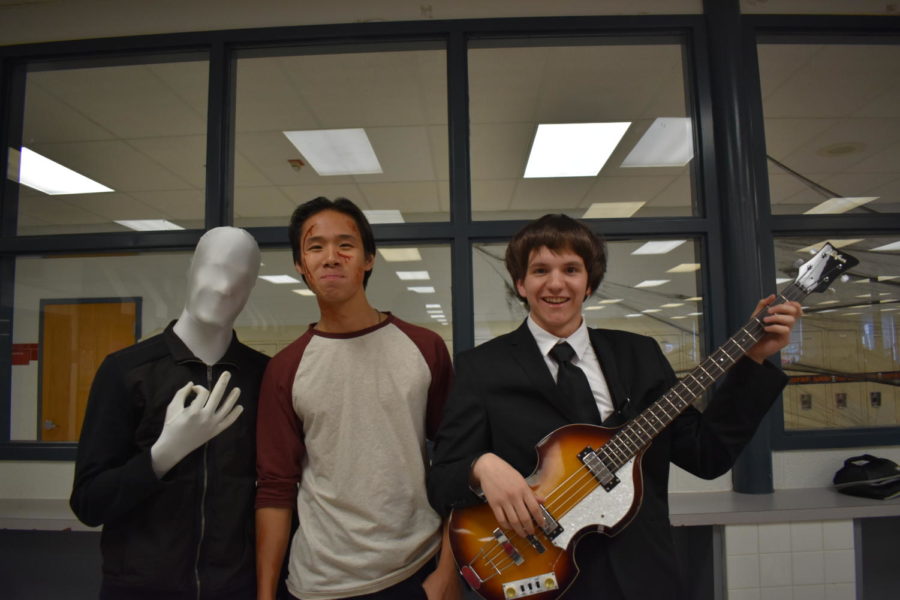
M 70 504 L 103 525 L 100 598 L 255 597 L 256 399 L 268 357 L 233 325 L 259 264 L 246 231 L 208 231 L 178 319 L 97 371 Z

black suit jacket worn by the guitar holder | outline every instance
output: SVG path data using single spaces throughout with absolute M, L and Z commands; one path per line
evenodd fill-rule
M 603 425 L 635 417 L 677 383 L 652 338 L 608 329 L 589 329 L 589 335 L 616 408 Z M 535 445 L 572 423 L 525 323 L 459 354 L 455 369 L 428 476 L 431 503 L 444 515 L 480 502 L 469 488 L 469 471 L 479 456 L 493 452 L 528 476 L 537 464 Z M 669 463 L 706 479 L 728 471 L 786 381 L 771 364 L 743 358 L 703 413 L 690 407 L 661 432 L 642 461 L 640 510 L 617 536 L 591 535 L 596 539 L 579 543 L 579 578 L 592 576 L 591 563 L 608 560 L 626 597 L 674 597 L 679 586 L 669 525 Z M 582 546 L 591 550 L 582 552 Z

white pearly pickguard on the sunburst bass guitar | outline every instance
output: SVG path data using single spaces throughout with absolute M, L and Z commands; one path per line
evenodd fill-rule
M 625 518 L 634 503 L 634 458 L 616 471 L 619 483 L 610 491 L 598 486 L 563 516 L 554 515 L 563 532 L 556 536 L 553 545 L 567 548 L 576 533 L 589 526 L 612 527 Z

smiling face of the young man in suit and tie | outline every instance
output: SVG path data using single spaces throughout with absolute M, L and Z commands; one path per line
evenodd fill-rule
M 569 249 L 541 246 L 528 257 L 525 277 L 516 282 L 528 302 L 531 318 L 557 337 L 568 337 L 581 325 L 581 306 L 590 296 L 584 261 Z

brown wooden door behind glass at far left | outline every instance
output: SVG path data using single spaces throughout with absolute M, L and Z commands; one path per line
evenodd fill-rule
M 41 441 L 78 441 L 97 368 L 137 341 L 139 312 L 139 298 L 41 301 Z

